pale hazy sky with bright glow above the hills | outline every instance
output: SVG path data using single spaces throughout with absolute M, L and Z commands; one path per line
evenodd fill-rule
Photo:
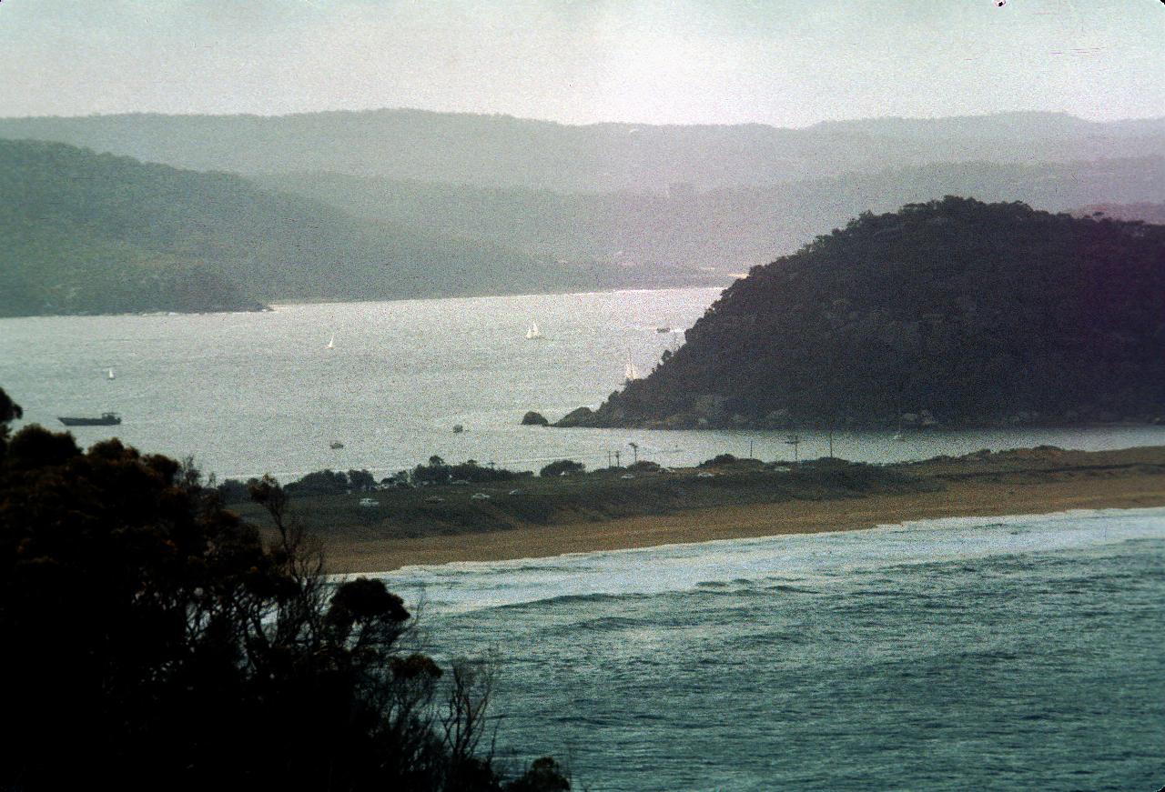
M 1160 0 L 0 0 L 0 115 L 1165 115 Z

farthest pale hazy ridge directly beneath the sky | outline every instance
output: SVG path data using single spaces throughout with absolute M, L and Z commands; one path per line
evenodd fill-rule
M 764 125 L 566 126 L 416 109 L 0 119 L 0 137 L 51 140 L 197 170 L 327 171 L 557 192 L 768 186 L 934 162 L 1158 156 L 1165 119 L 1057 113 Z

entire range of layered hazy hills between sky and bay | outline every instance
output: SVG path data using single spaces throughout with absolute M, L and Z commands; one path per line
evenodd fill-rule
M 0 313 L 722 285 L 861 212 L 945 195 L 1159 204 L 1162 151 L 1165 120 L 1053 113 L 804 129 L 408 109 L 0 119 Z

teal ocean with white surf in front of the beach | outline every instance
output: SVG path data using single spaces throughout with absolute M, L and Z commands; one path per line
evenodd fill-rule
M 1165 785 L 1165 509 L 384 575 L 494 652 L 497 750 L 576 789 Z

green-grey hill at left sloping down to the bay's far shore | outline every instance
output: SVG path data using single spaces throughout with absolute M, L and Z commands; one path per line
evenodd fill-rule
M 0 316 L 675 285 L 348 217 L 221 172 L 0 141 Z M 706 282 L 706 281 L 705 281 Z

